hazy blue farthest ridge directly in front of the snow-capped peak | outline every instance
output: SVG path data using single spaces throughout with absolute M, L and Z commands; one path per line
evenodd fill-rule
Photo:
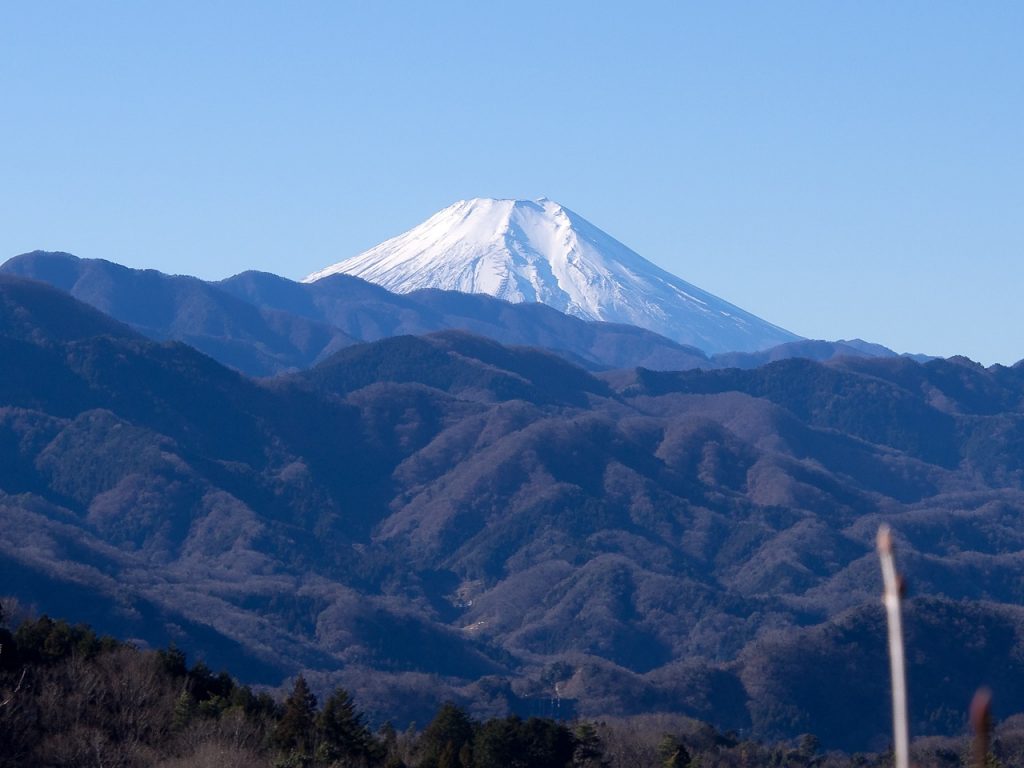
M 773 359 L 895 356 L 860 341 L 786 342 L 709 355 L 635 326 L 588 322 L 541 303 L 424 289 L 395 294 L 347 274 L 296 283 L 267 272 L 219 282 L 36 251 L 0 273 L 47 283 L 157 340 L 182 341 L 250 376 L 308 368 L 359 341 L 460 330 L 540 347 L 590 371 L 753 368 Z

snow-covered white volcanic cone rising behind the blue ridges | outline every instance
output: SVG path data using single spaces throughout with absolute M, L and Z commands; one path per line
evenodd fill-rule
M 539 301 L 708 352 L 757 351 L 800 338 L 670 274 L 545 198 L 460 201 L 303 282 L 338 272 L 395 293 L 439 288 Z

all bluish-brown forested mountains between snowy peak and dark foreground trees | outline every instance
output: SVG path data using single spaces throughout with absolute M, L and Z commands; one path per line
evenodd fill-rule
M 29 265 L 52 285 L 0 276 L 0 592 L 40 612 L 249 684 L 302 673 L 374 723 L 554 701 L 884 751 L 884 520 L 909 580 L 912 732 L 959 733 L 984 683 L 998 717 L 1024 711 L 1020 364 L 611 370 L 596 358 L 708 358 L 344 275 L 365 297 L 348 315 L 328 281 L 232 279 L 273 309 L 59 255 L 7 271 Z M 457 305 L 575 351 L 390 336 Z M 309 319 L 329 308 L 379 337 Z M 295 370 L 249 378 L 181 341 Z

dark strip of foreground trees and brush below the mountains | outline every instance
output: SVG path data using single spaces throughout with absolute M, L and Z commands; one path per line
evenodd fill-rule
M 8 605 L 12 601 L 8 602 Z M 13 603 L 16 605 L 16 603 Z M 9 612 L 9 611 L 7 611 Z M 46 615 L 13 629 L 0 604 L 0 767 L 757 768 L 890 766 L 824 753 L 813 734 L 761 743 L 699 721 L 638 716 L 476 720 L 452 701 L 401 731 L 370 724 L 344 688 L 321 701 L 300 675 L 283 697 L 254 691 L 174 646 L 140 650 Z M 878 702 L 884 707 L 886 702 Z M 850 713 L 855 717 L 856 713 Z M 916 764 L 968 764 L 966 737 L 914 744 Z M 990 766 L 1024 763 L 1024 715 L 999 724 Z

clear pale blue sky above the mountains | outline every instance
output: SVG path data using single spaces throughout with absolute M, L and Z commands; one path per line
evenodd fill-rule
M 547 196 L 796 333 L 1024 357 L 1024 3 L 0 4 L 0 258 L 299 278 Z

